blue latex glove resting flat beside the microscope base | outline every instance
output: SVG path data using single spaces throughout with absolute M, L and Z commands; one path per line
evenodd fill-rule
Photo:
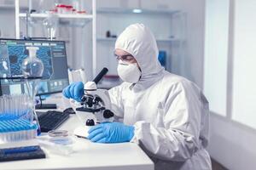
M 129 142 L 134 136 L 134 127 L 120 122 L 104 122 L 91 127 L 88 133 L 88 139 L 96 143 Z

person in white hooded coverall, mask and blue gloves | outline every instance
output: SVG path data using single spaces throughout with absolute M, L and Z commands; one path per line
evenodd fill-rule
M 115 42 L 118 74 L 124 81 L 109 90 L 113 113 L 122 122 L 92 127 L 89 139 L 133 142 L 159 170 L 212 169 L 208 143 L 208 102 L 195 83 L 161 67 L 155 38 L 143 24 L 128 26 Z M 79 100 L 83 83 L 63 90 Z

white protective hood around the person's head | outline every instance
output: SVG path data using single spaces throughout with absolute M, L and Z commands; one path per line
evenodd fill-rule
M 117 41 L 115 49 L 122 49 L 137 59 L 142 77 L 134 86 L 142 90 L 159 81 L 164 75 L 164 68 L 158 60 L 158 48 L 153 33 L 143 24 L 134 24 L 125 28 Z

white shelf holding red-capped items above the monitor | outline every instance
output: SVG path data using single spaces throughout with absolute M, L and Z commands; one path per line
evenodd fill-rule
M 26 17 L 26 13 L 20 13 L 20 17 Z M 47 18 L 49 14 L 30 14 L 32 18 Z M 63 19 L 92 19 L 92 14 L 56 14 Z

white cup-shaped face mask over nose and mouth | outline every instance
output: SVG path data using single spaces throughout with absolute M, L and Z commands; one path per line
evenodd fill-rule
M 117 70 L 119 77 L 125 82 L 138 82 L 142 75 L 142 72 L 137 68 L 136 63 L 126 64 L 122 61 L 119 61 Z

